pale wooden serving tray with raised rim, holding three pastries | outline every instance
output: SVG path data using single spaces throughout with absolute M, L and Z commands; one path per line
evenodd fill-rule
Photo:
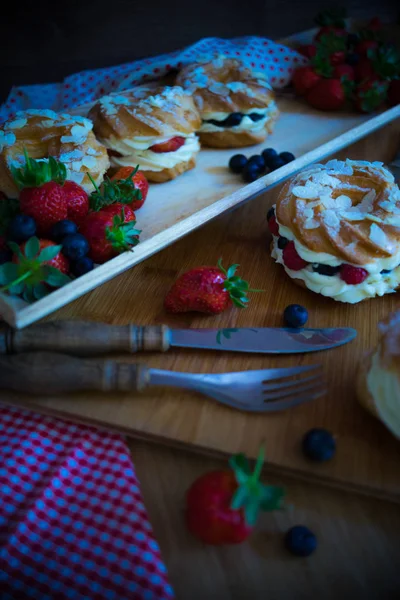
M 287 45 L 306 43 L 312 39 L 313 33 L 314 30 L 303 32 L 284 42 Z M 132 252 L 121 254 L 31 305 L 19 298 L 0 294 L 0 315 L 3 319 L 17 328 L 37 321 L 216 216 L 272 189 L 307 165 L 323 160 L 400 116 L 400 106 L 379 114 L 365 115 L 355 112 L 324 113 L 296 98 L 278 96 L 277 103 L 281 115 L 274 133 L 263 144 L 240 149 L 240 152 L 251 156 L 260 153 L 263 148 L 274 147 L 279 152 L 290 150 L 296 156 L 295 161 L 246 185 L 227 167 L 229 158 L 237 150 L 202 149 L 195 169 L 174 181 L 150 186 L 149 197 L 137 213 L 137 225 L 142 230 L 141 243 Z M 86 104 L 72 112 L 86 115 L 90 106 Z

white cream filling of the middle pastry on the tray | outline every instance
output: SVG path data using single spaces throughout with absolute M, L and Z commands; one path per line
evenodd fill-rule
M 188 162 L 200 150 L 199 140 L 194 133 L 182 135 L 186 138 L 185 143 L 174 152 L 153 152 L 149 150 L 149 147 L 153 144 L 166 142 L 177 135 L 181 136 L 180 133 L 175 133 L 167 138 L 142 137 L 124 140 L 124 152 L 121 152 L 116 145 L 112 146 L 113 150 L 117 150 L 124 155 L 111 156 L 111 164 L 122 167 L 139 165 L 144 171 L 162 171 L 163 169 L 172 169 L 179 163 Z M 128 151 L 127 148 L 129 148 Z

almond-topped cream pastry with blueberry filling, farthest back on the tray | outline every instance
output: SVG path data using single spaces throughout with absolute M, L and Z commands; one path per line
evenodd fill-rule
M 178 74 L 177 83 L 193 93 L 202 118 L 200 141 L 206 146 L 259 144 L 279 115 L 265 75 L 236 59 L 220 56 L 189 65 Z

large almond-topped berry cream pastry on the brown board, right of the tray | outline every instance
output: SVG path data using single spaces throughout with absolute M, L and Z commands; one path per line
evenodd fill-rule
M 331 160 L 288 181 L 268 213 L 272 256 L 296 283 L 354 304 L 400 283 L 400 190 L 382 163 Z

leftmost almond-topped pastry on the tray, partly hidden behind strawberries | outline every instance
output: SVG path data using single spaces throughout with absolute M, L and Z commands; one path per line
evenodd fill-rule
M 53 156 L 66 166 L 68 180 L 93 191 L 88 173 L 100 185 L 110 163 L 92 128 L 89 119 L 52 110 L 17 112 L 0 127 L 0 191 L 9 198 L 18 196 L 11 169 L 25 165 L 25 153 L 44 161 Z

